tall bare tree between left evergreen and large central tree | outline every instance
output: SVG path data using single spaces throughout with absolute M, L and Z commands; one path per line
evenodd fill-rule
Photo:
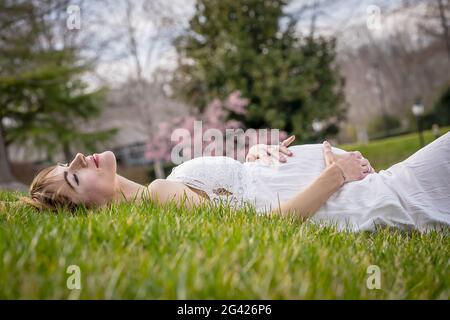
M 118 17 L 111 28 L 123 34 L 121 41 L 126 44 L 123 54 L 129 57 L 131 63 L 124 77 L 126 83 L 123 88 L 128 89 L 128 102 L 139 115 L 134 126 L 150 140 L 159 133 L 158 124 L 163 121 L 161 118 L 170 118 L 170 112 L 176 109 L 173 107 L 184 107 L 181 104 L 175 106 L 175 101 L 168 101 L 167 95 L 160 90 L 160 81 L 151 72 L 156 67 L 156 58 L 161 55 L 161 46 L 170 43 L 169 39 L 176 33 L 180 19 L 176 16 L 174 4 L 162 0 L 110 2 L 105 12 L 105 23 L 111 24 L 111 12 Z M 163 72 L 155 72 L 158 73 L 161 75 Z M 133 85 L 127 86 L 127 83 Z M 157 157 L 153 162 L 157 178 L 164 178 L 161 160 Z

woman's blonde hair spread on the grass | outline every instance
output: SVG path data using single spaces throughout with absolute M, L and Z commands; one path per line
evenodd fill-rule
M 70 197 L 63 195 L 61 190 L 64 186 L 64 178 L 61 175 L 49 176 L 56 165 L 41 170 L 31 182 L 27 197 L 19 199 L 23 204 L 29 205 L 37 210 L 50 209 L 56 211 L 63 207 L 73 211 L 78 205 Z

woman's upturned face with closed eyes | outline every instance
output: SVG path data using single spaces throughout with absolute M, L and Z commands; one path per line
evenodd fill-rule
M 70 164 L 59 164 L 53 172 L 62 175 L 75 203 L 103 205 L 114 198 L 116 157 L 111 151 L 87 157 L 78 153 Z

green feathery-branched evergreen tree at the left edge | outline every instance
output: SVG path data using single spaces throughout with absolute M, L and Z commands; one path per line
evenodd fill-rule
M 87 90 L 81 77 L 91 66 L 76 46 L 58 42 L 52 33 L 52 10 L 66 9 L 55 3 L 1 3 L 0 11 L 8 13 L 0 15 L 0 24 L 8 26 L 0 37 L 1 163 L 8 163 L 6 148 L 13 142 L 32 141 L 50 160 L 63 151 L 69 161 L 75 148 L 94 150 L 115 132 L 83 130 L 100 115 L 103 90 Z M 6 171 L 1 177 L 8 177 Z

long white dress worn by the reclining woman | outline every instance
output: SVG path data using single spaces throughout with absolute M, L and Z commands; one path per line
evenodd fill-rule
M 175 167 L 167 180 L 203 190 L 214 202 L 236 207 L 250 203 L 264 214 L 295 196 L 325 169 L 321 144 L 289 150 L 294 155 L 286 163 L 272 165 L 222 156 L 194 158 Z M 333 148 L 333 152 L 346 151 Z M 448 227 L 450 132 L 387 170 L 344 184 L 309 221 L 352 231 L 376 226 L 420 231 Z

